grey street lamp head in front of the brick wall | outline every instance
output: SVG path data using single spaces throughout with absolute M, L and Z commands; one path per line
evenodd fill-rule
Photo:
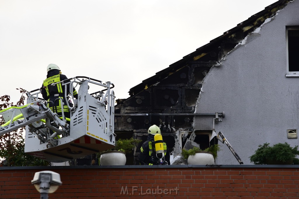
M 40 171 L 34 174 L 31 184 L 40 192 L 41 199 L 48 199 L 48 193 L 54 193 L 62 182 L 59 173 L 53 171 Z

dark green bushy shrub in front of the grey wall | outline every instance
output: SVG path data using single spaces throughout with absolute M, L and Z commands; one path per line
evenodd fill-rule
M 259 145 L 258 149 L 251 155 L 250 162 L 254 164 L 295 164 L 299 159 L 298 146 L 291 147 L 288 143 L 277 143 L 269 146 L 270 143 Z

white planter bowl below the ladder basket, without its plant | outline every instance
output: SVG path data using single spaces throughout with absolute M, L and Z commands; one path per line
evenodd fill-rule
M 101 165 L 125 165 L 126 153 L 123 151 L 106 151 L 100 156 Z

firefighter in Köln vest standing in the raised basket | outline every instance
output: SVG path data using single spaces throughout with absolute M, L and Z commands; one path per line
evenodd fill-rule
M 65 86 L 62 85 L 62 83 L 51 86 L 52 83 L 66 80 L 68 78 L 61 74 L 60 68 L 56 64 L 49 64 L 47 67 L 47 72 L 47 79 L 44 80 L 41 87 L 42 97 L 48 101 L 48 106 L 53 112 L 56 112 L 59 116 L 62 116 L 63 112 L 65 118 L 70 118 L 70 111 L 66 104 L 66 100 L 68 99 L 65 99 Z M 78 99 L 77 91 L 73 89 L 72 92 L 74 98 Z M 69 93 L 70 88 L 67 86 L 67 94 Z M 67 123 L 70 124 L 69 121 L 67 121 Z

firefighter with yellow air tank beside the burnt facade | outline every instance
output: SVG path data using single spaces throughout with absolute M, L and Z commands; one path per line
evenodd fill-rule
M 170 153 L 166 143 L 162 140 L 160 128 L 152 125 L 148 129 L 147 141 L 145 141 L 139 154 L 141 165 L 170 165 Z

